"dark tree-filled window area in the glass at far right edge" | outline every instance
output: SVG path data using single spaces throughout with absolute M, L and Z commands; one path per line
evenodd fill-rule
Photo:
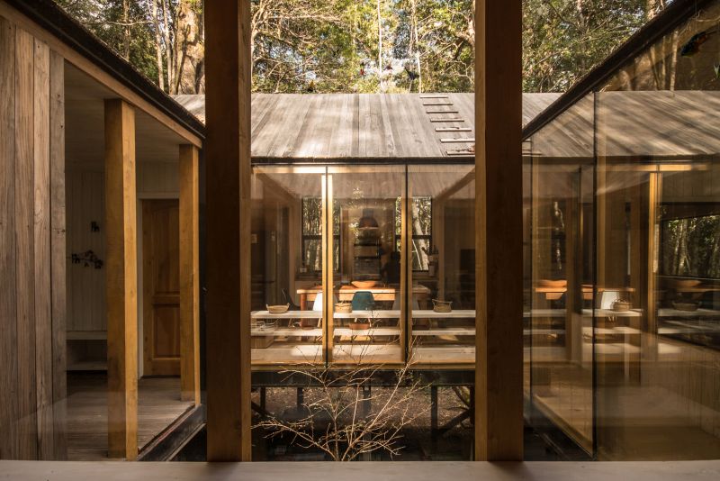
M 662 271 L 668 276 L 720 277 L 720 215 L 663 222 Z

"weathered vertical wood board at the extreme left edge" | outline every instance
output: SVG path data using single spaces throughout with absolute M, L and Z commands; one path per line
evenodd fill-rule
M 15 27 L 0 17 L 0 458 L 17 458 Z

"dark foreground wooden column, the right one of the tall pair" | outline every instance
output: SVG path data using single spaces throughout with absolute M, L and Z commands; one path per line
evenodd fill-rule
M 521 1 L 476 0 L 475 22 L 475 459 L 521 460 Z

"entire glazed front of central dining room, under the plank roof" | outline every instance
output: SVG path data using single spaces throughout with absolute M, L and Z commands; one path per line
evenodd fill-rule
M 252 189 L 254 366 L 473 368 L 473 166 L 257 166 Z

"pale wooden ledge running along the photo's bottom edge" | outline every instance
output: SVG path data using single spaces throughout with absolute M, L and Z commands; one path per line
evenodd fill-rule
M 77 481 L 101 479 L 175 479 L 178 481 L 205 479 L 253 479 L 257 481 L 315 481 L 338 479 L 343 481 L 377 481 L 411 479 L 412 481 L 479 480 L 505 481 L 509 479 L 570 481 L 599 481 L 606 479 L 705 480 L 720 479 L 720 461 L 681 462 L 525 462 L 487 463 L 466 462 L 275 462 L 275 463 L 78 463 L 0 461 L 0 476 L 4 479 L 42 479 L 47 481 Z

